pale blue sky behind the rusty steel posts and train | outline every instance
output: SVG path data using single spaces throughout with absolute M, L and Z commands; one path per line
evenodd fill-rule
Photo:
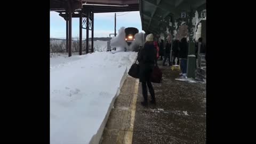
M 140 12 L 116 12 L 116 33 L 121 27 L 135 27 L 141 29 Z M 115 33 L 115 13 L 94 13 L 94 37 L 109 37 Z M 82 31 L 83 39 L 86 38 L 86 29 Z M 66 38 L 66 21 L 58 12 L 50 12 L 50 37 Z M 72 19 L 72 37 L 79 37 L 79 18 Z M 91 37 L 91 30 L 89 30 Z

